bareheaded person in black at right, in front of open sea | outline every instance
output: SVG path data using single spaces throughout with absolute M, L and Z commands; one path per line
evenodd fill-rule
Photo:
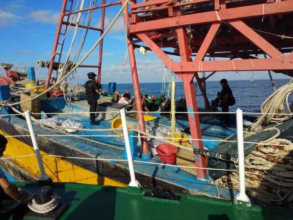
M 220 102 L 220 107 L 222 107 L 223 112 L 229 112 L 229 106 L 231 105 L 231 99 L 233 97 L 232 90 L 228 85 L 227 79 L 222 79 L 220 81 L 222 86 L 221 92 L 218 92 L 218 101 Z M 230 127 L 230 115 L 223 114 L 224 126 Z

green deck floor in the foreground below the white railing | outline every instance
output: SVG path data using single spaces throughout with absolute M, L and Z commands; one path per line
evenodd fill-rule
M 37 184 L 18 184 L 34 192 Z M 233 202 L 181 195 L 180 201 L 146 198 L 127 188 L 84 184 L 55 184 L 54 192 L 69 207 L 66 220 L 292 220 L 293 212 L 252 205 L 250 210 Z M 13 219 L 11 217 L 11 219 Z

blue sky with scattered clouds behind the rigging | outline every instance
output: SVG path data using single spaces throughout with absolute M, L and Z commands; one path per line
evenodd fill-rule
M 101 3 L 100 1 L 97 1 L 98 4 Z M 0 63 L 12 63 L 21 68 L 35 66 L 38 59 L 49 60 L 62 2 L 63 0 L 0 0 Z M 88 6 L 88 4 L 89 0 L 85 0 L 84 5 Z M 106 8 L 105 26 L 111 22 L 119 8 L 119 5 Z M 83 16 L 86 15 L 83 14 Z M 98 27 L 99 23 L 100 10 L 96 10 L 91 25 Z M 66 37 L 65 44 L 67 45 L 70 44 L 73 29 L 70 29 Z M 78 40 L 81 39 L 82 31 L 78 32 Z M 81 56 L 98 40 L 99 35 L 97 31 L 89 31 Z M 65 46 L 64 52 L 67 52 L 66 49 L 68 48 Z M 122 17 L 117 20 L 105 37 L 103 53 L 102 83 L 112 81 L 131 83 L 129 65 L 122 65 L 126 53 L 125 27 Z M 65 53 L 63 59 L 64 57 Z M 162 81 L 162 64 L 152 52 L 143 56 L 136 51 L 136 59 L 140 82 Z M 84 64 L 97 64 L 97 62 L 98 51 L 95 50 Z M 37 72 L 38 70 L 36 68 Z M 45 68 L 41 69 L 41 78 L 45 78 L 46 71 Z M 80 83 L 85 81 L 86 73 L 89 71 L 96 71 L 96 69 L 78 69 Z M 5 73 L 0 70 L 0 74 Z M 224 77 L 230 80 L 249 80 L 251 76 L 251 72 L 238 74 L 219 72 L 210 77 L 210 80 L 219 80 Z M 273 78 L 284 77 L 286 76 L 283 74 L 273 74 Z M 268 79 L 268 74 L 255 71 L 253 79 Z

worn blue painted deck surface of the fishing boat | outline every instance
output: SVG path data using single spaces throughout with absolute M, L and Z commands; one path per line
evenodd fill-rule
M 77 111 L 80 107 L 72 106 L 71 110 Z M 68 108 L 66 108 L 68 111 Z M 84 110 L 84 109 L 83 109 Z M 89 124 L 89 115 L 88 114 L 60 114 L 56 113 L 54 115 L 50 115 L 51 117 L 58 117 L 59 119 L 66 120 L 67 118 L 70 118 L 71 120 L 80 122 L 84 125 L 86 129 L 103 129 L 103 128 L 110 128 L 111 120 L 103 120 L 100 121 L 100 125 L 98 126 L 92 126 Z M 158 116 L 158 115 L 156 115 Z M 21 126 L 22 128 L 27 129 L 26 121 L 17 117 L 17 116 L 11 116 L 11 117 L 4 117 L 3 120 L 9 120 L 11 124 L 14 126 Z M 135 119 L 130 119 L 135 120 Z M 163 124 L 165 126 L 169 126 L 170 122 L 167 120 L 167 118 L 158 118 L 154 120 L 155 123 L 159 122 L 159 124 Z M 152 122 L 154 122 L 152 121 Z M 151 123 L 151 122 L 149 122 Z M 177 126 L 185 128 L 188 126 L 188 121 L 184 120 L 177 120 Z M 207 132 L 215 132 L 222 135 L 232 135 L 234 133 L 233 129 L 225 129 L 220 126 L 211 126 L 209 124 L 202 124 L 202 128 Z M 37 125 L 34 125 L 36 134 L 60 134 L 54 131 L 50 131 L 45 128 L 41 128 Z M 115 135 L 114 132 L 88 132 L 88 131 L 78 131 L 71 133 L 73 135 Z M 124 149 L 124 140 L 123 137 L 74 137 L 74 136 L 47 136 L 46 137 L 49 140 L 52 140 L 54 142 L 58 142 L 59 144 L 62 144 L 68 148 L 75 149 L 77 151 L 80 151 L 84 154 L 88 154 L 95 158 L 103 158 L 103 159 L 123 159 L 123 150 L 107 147 L 105 145 L 96 144 L 96 143 L 85 143 L 84 139 L 92 139 L 95 141 L 103 142 L 106 144 L 112 144 L 115 145 L 118 148 Z M 215 137 L 210 136 L 203 136 L 204 139 L 216 139 Z M 220 138 L 218 138 L 220 139 Z M 212 150 L 219 142 L 211 142 L 211 141 L 204 141 L 204 145 L 209 149 Z M 137 160 L 141 160 L 140 158 L 136 158 Z M 160 162 L 158 157 L 153 157 L 153 162 Z M 128 168 L 127 162 L 125 161 L 109 161 L 109 163 L 117 164 L 122 167 Z M 231 199 L 233 198 L 234 194 L 231 192 L 228 188 L 215 186 L 210 184 L 207 181 L 202 181 L 200 179 L 197 179 L 196 176 L 189 174 L 185 171 L 179 170 L 178 172 L 174 172 L 171 169 L 167 169 L 166 166 L 162 165 L 155 165 L 155 164 L 143 164 L 143 163 L 134 163 L 134 168 L 136 172 L 139 172 L 141 174 L 145 174 L 148 176 L 155 177 L 157 179 L 163 179 L 167 182 L 170 182 L 172 184 L 176 184 L 179 187 L 186 188 L 188 190 L 193 190 L 198 192 L 202 195 L 209 195 L 213 198 L 224 198 L 224 199 Z

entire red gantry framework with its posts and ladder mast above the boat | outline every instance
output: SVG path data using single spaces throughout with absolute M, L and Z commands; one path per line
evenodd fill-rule
M 63 1 L 62 16 L 81 11 L 65 13 L 66 1 Z M 105 3 L 103 0 L 102 5 L 83 11 L 124 2 Z M 142 108 L 134 48 L 143 42 L 146 49 L 153 51 L 184 83 L 191 137 L 197 139 L 192 141 L 194 148 L 203 148 L 199 115 L 192 113 L 198 111 L 194 78 L 208 109 L 205 83 L 217 71 L 272 70 L 293 76 L 293 37 L 290 37 L 293 36 L 293 0 L 131 0 L 130 11 L 125 8 L 123 13 L 138 111 Z M 104 19 L 105 12 L 102 13 Z M 63 17 L 59 27 L 62 23 Z M 101 32 L 103 29 L 104 25 Z M 56 33 L 52 55 L 56 52 L 60 30 L 61 27 Z M 102 46 L 100 44 L 99 68 Z M 168 55 L 180 57 L 180 62 L 174 62 Z M 50 66 L 52 63 L 54 59 Z M 51 71 L 52 67 L 49 78 Z M 199 72 L 211 73 L 200 78 Z M 99 80 L 100 77 L 101 70 Z M 145 131 L 142 113 L 138 119 L 141 131 Z M 147 143 L 143 143 L 143 154 L 147 154 Z M 195 163 L 197 167 L 206 167 L 203 156 L 196 156 Z M 198 177 L 205 178 L 206 174 L 206 170 L 197 169 Z

